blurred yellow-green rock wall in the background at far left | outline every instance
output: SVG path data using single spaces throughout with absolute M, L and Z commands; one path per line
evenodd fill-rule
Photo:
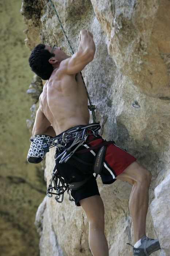
M 41 165 L 28 165 L 32 80 L 20 0 L 0 1 L 0 255 L 38 256 L 34 221 L 46 188 Z

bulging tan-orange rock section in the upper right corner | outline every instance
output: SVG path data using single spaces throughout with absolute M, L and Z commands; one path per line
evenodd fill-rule
M 92 0 L 92 4 L 120 71 L 147 95 L 170 97 L 169 1 Z

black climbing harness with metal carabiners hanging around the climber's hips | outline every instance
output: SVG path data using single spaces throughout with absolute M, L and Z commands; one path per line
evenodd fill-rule
M 99 136 L 97 131 L 100 128 L 101 126 L 99 123 L 93 123 L 89 125 L 80 125 L 78 127 L 73 127 L 67 130 L 66 132 L 63 132 L 61 135 L 56 136 L 53 139 L 53 146 L 51 146 L 51 147 L 56 146 L 55 163 L 56 161 L 59 161 L 59 163 L 61 164 L 66 163 L 69 160 L 69 158 L 73 156 L 75 152 L 80 154 L 81 151 L 87 152 L 93 148 L 103 147 L 103 146 L 105 147 L 105 145 L 113 143 L 113 141 L 103 142 L 97 146 L 89 147 L 89 148 L 86 148 L 85 150 L 77 151 L 78 148 L 82 144 L 84 144 L 84 142 L 86 142 L 86 139 L 89 135 L 96 135 L 96 137 Z M 97 163 L 98 168 L 97 169 L 94 168 L 96 177 L 98 174 L 101 173 L 101 169 L 104 161 L 104 154 L 105 154 L 105 149 L 103 150 L 100 148 L 96 158 L 97 162 L 95 161 L 95 164 Z M 95 170 L 97 170 L 97 172 Z M 74 201 L 71 198 L 70 189 L 76 190 L 81 188 L 92 177 L 92 175 L 93 173 L 91 173 L 91 175 L 89 175 L 83 181 L 65 184 L 64 179 L 59 175 L 57 171 L 57 166 L 55 164 L 52 177 L 50 180 L 50 184 L 49 184 L 49 187 L 47 188 L 47 196 L 52 197 L 53 195 L 56 195 L 55 200 L 58 203 L 62 203 L 64 192 L 67 191 L 69 195 L 69 200 Z M 56 192 L 54 193 L 53 190 L 55 190 Z

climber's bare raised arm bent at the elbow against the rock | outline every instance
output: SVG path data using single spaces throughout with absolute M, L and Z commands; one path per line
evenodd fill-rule
M 78 51 L 69 59 L 62 61 L 61 68 L 63 68 L 65 73 L 69 75 L 80 72 L 90 61 L 93 60 L 95 50 L 96 48 L 92 33 L 88 30 L 81 30 Z

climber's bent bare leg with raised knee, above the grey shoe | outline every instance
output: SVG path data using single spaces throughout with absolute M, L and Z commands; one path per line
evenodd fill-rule
M 132 184 L 129 208 L 134 226 L 135 242 L 146 234 L 146 215 L 148 210 L 148 190 L 151 173 L 138 162 L 133 162 L 124 172 L 116 177 L 117 180 Z

